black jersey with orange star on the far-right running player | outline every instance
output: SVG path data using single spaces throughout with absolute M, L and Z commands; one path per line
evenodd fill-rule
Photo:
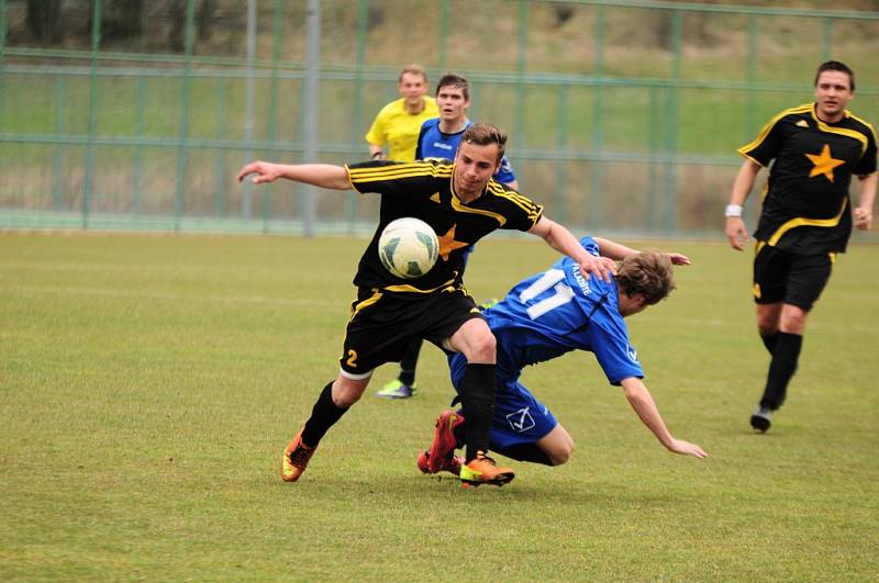
M 852 176 L 876 171 L 876 133 L 849 113 L 819 120 L 815 104 L 785 110 L 738 153 L 768 166 L 763 211 L 754 237 L 792 253 L 845 251 L 852 234 Z

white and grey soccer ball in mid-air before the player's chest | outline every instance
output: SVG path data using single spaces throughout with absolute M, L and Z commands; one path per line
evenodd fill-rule
M 398 278 L 420 278 L 431 270 L 438 255 L 436 233 L 420 218 L 391 221 L 378 239 L 381 265 Z

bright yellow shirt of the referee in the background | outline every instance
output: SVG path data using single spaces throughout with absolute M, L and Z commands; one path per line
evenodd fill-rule
M 374 146 L 388 144 L 389 160 L 413 161 L 421 124 L 438 115 L 439 109 L 432 97 L 424 97 L 424 109 L 415 115 L 405 110 L 405 99 L 400 98 L 381 108 L 366 133 L 366 141 Z

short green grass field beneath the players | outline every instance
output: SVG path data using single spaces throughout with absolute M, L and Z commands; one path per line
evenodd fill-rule
M 365 396 L 285 484 L 364 245 L 0 235 L 0 580 L 879 579 L 879 247 L 837 262 L 758 436 L 750 255 L 653 244 L 694 265 L 631 334 L 670 429 L 706 460 L 666 452 L 594 359 L 568 355 L 525 373 L 577 441 L 568 464 L 515 462 L 500 490 L 423 477 L 452 394 L 425 347 L 416 399 Z M 468 284 L 498 296 L 553 260 L 491 238 Z

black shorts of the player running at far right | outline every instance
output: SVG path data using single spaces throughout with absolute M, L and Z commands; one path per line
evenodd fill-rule
M 754 257 L 754 301 L 785 302 L 806 312 L 831 278 L 835 254 L 799 255 L 763 245 Z

